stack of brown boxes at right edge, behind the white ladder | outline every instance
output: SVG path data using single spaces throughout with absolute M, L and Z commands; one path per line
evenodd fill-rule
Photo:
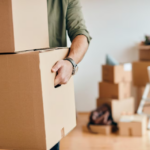
M 143 90 L 149 82 L 148 66 L 150 66 L 150 46 L 141 42 L 139 45 L 139 61 L 132 64 L 133 85 L 136 87 L 136 110 L 142 99 Z

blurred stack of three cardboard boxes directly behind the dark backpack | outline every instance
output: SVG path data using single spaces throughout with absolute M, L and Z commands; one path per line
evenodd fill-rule
M 134 113 L 135 111 L 134 98 L 131 97 L 132 73 L 129 66 L 131 64 L 102 66 L 103 81 L 99 83 L 100 97 L 97 99 L 97 107 L 104 103 L 109 104 L 116 122 L 123 112 Z

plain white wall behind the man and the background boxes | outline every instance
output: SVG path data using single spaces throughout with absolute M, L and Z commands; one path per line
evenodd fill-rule
M 93 38 L 75 76 L 77 110 L 96 107 L 105 55 L 120 62 L 138 59 L 137 43 L 150 34 L 150 0 L 81 0 Z

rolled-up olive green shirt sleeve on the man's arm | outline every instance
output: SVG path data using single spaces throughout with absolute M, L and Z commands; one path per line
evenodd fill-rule
M 85 35 L 90 43 L 92 38 L 85 25 L 80 0 L 68 0 L 66 28 L 71 41 L 77 35 Z

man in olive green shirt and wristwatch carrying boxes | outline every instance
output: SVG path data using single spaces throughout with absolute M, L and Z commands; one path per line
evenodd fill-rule
M 58 72 L 55 87 L 66 84 L 76 73 L 77 64 L 84 57 L 91 37 L 86 29 L 79 0 L 47 0 L 50 47 L 66 47 L 66 30 L 72 45 L 65 60 L 58 61 L 52 72 Z M 51 150 L 59 150 L 56 144 Z

